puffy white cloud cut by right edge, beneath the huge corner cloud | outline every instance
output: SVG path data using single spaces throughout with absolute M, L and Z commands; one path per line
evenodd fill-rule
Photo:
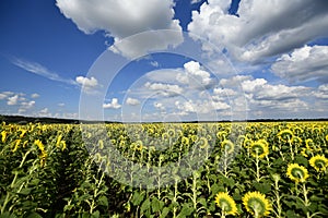
M 272 64 L 273 73 L 290 82 L 328 82 L 328 46 L 304 46 L 282 55 Z

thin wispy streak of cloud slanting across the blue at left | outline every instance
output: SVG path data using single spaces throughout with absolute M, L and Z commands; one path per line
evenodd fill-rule
M 70 84 L 70 85 L 75 85 L 74 81 L 62 78 L 57 73 L 51 72 L 46 66 L 44 66 L 39 63 L 31 62 L 31 61 L 26 61 L 26 60 L 22 60 L 22 59 L 13 59 L 12 63 L 20 66 L 20 68 L 22 68 L 22 69 L 24 69 L 25 71 L 28 71 L 31 73 L 44 76 L 44 77 L 49 78 L 51 81 L 57 81 L 57 82 L 62 82 L 62 83 L 67 83 L 67 84 Z

